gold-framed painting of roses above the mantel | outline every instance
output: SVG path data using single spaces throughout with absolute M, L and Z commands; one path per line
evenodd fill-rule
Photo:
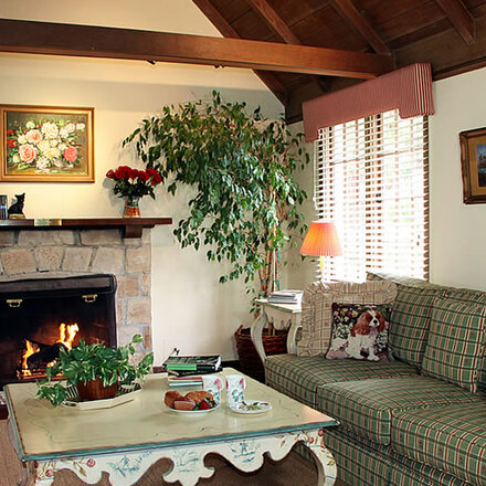
M 0 181 L 94 182 L 94 108 L 0 105 Z

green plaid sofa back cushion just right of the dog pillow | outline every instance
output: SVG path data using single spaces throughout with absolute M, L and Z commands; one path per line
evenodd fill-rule
M 446 287 L 384 273 L 368 273 L 367 278 L 388 278 L 397 284 L 397 298 L 390 318 L 390 349 L 395 358 L 420 369 L 427 342 L 432 305 L 435 296 Z

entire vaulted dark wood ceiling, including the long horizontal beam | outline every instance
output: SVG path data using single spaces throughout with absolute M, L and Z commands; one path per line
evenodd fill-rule
M 0 52 L 255 70 L 288 122 L 302 102 L 415 62 L 486 66 L 486 0 L 192 0 L 224 39 L 0 19 Z

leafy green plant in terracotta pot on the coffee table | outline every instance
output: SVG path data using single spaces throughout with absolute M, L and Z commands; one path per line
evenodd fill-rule
M 36 398 L 46 399 L 54 406 L 67 398 L 66 387 L 76 387 L 83 400 L 98 400 L 115 397 L 118 385 L 130 385 L 134 380 L 142 379 L 150 372 L 154 353 L 148 353 L 137 364 L 130 364 L 135 353 L 134 345 L 141 342 L 140 335 L 135 335 L 126 346 L 114 349 L 102 342 L 87 345 L 83 339 L 71 350 L 60 349 L 59 358 L 47 367 L 46 380 L 38 383 Z M 53 379 L 62 374 L 65 384 Z

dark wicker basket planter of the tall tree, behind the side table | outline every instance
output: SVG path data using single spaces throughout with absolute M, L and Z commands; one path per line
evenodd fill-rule
M 262 335 L 266 356 L 286 353 L 288 330 L 275 330 L 274 335 L 267 335 L 265 334 L 266 331 L 267 329 L 264 329 Z M 265 380 L 265 370 L 250 336 L 250 328 L 244 329 L 243 325 L 240 326 L 234 334 L 234 339 L 236 340 L 241 371 L 263 382 Z

